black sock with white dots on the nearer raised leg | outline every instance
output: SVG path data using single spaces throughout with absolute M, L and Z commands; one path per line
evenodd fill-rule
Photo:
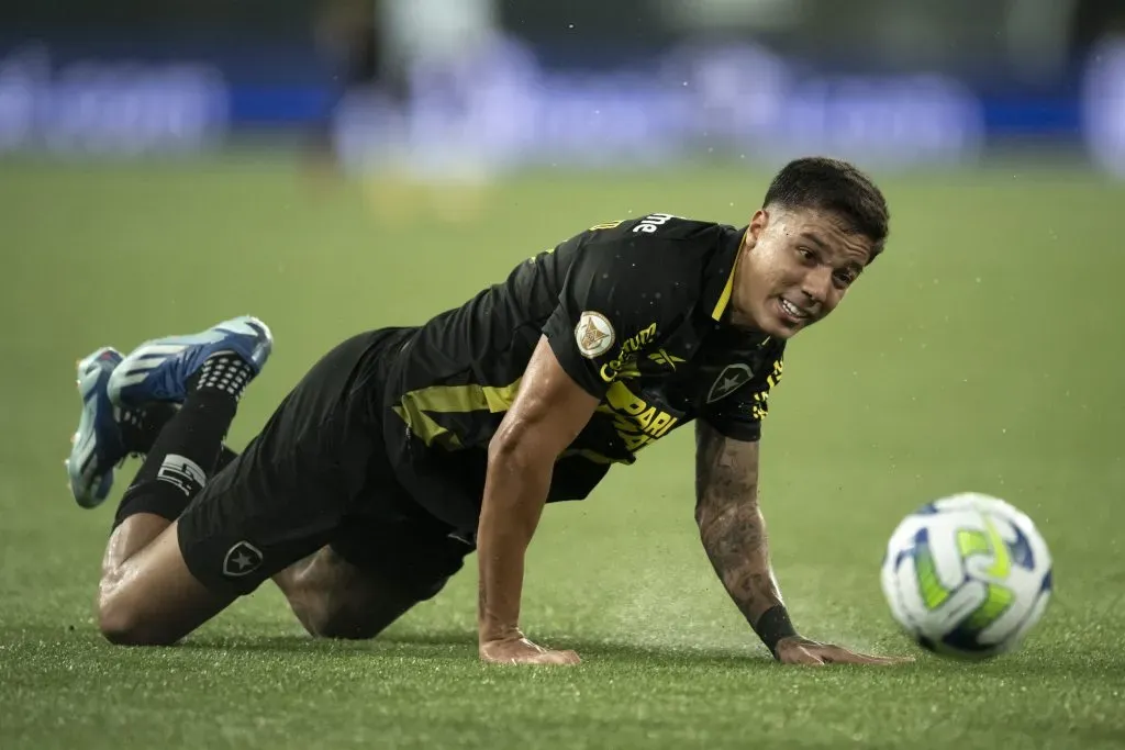
M 188 383 L 183 406 L 156 435 L 125 490 L 114 527 L 137 513 L 169 521 L 183 513 L 215 472 L 223 439 L 252 374 L 250 365 L 231 352 L 213 354 L 204 362 Z

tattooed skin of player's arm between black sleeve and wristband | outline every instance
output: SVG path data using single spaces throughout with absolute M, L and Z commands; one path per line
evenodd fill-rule
M 758 445 L 728 440 L 702 421 L 695 437 L 700 537 L 716 573 L 754 626 L 782 603 L 758 507 Z

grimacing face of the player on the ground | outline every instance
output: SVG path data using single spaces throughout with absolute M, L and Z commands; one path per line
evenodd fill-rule
M 757 211 L 735 277 L 735 322 L 789 338 L 836 309 L 871 251 L 831 214 Z

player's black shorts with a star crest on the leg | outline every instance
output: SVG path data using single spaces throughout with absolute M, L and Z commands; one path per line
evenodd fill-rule
M 208 589 L 249 594 L 325 545 L 415 600 L 460 570 L 474 548 L 403 489 L 384 444 L 381 379 L 408 335 L 371 331 L 330 351 L 192 499 L 180 550 Z

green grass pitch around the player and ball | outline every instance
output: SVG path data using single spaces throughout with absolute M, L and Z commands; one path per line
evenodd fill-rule
M 692 521 L 691 435 L 544 514 L 524 624 L 585 662 L 479 665 L 469 567 L 382 636 L 314 642 L 270 585 L 166 649 L 91 613 L 112 506 L 71 500 L 73 362 L 253 313 L 276 336 L 231 442 L 363 328 L 459 304 L 532 253 L 648 211 L 739 223 L 768 174 L 513 180 L 478 220 L 379 218 L 285 164 L 0 164 L 0 747 L 1120 748 L 1125 746 L 1125 189 L 1081 172 L 889 179 L 892 238 L 771 399 L 763 504 L 799 627 L 914 665 L 774 665 Z M 942 661 L 883 603 L 882 545 L 962 489 L 1040 524 L 1055 598 L 1015 654 Z

